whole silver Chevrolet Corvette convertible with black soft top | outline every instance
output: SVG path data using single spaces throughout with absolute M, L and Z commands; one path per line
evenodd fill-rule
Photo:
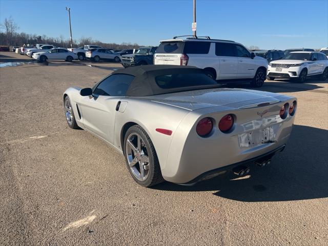
M 64 93 L 70 128 L 121 152 L 133 179 L 190 185 L 264 166 L 288 141 L 297 99 L 220 88 L 203 70 L 150 65 L 120 69 L 93 88 Z

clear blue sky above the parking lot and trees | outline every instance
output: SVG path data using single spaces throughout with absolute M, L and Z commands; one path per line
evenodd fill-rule
M 73 39 L 158 45 L 191 34 L 193 1 L 8 1 L 0 0 L 0 22 L 12 16 L 19 32 Z M 261 49 L 328 46 L 328 0 L 197 0 L 197 34 L 231 39 Z

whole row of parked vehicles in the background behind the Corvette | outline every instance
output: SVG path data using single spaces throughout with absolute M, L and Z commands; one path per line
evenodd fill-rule
M 56 48 L 38 44 L 22 47 L 21 54 L 45 61 L 48 59 L 90 59 L 94 62 L 110 60 L 123 67 L 142 65 L 180 65 L 203 69 L 208 76 L 220 83 L 250 83 L 261 87 L 265 78 L 292 78 L 303 83 L 308 76 L 328 77 L 328 48 L 314 49 L 252 50 L 231 40 L 210 37 L 177 36 L 161 40 L 158 47 L 141 47 L 135 50 L 114 51 L 96 45 L 78 48 Z

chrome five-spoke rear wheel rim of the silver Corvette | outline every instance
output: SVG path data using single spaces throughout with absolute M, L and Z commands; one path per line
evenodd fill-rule
M 149 174 L 149 156 L 144 139 L 132 132 L 126 141 L 126 157 L 132 174 L 140 181 Z

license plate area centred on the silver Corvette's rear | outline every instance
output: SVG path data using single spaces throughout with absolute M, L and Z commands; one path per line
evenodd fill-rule
M 262 145 L 262 142 L 270 140 L 271 127 L 245 132 L 238 135 L 240 148 L 249 148 Z

